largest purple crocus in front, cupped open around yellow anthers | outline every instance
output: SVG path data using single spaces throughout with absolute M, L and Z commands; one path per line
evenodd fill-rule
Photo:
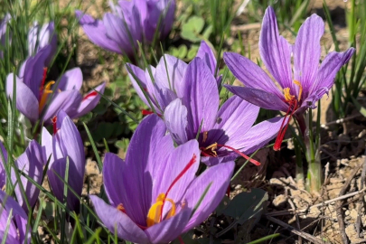
M 99 219 L 111 232 L 117 230 L 120 239 L 168 243 L 209 217 L 228 188 L 234 162 L 195 176 L 200 164 L 197 141 L 174 148 L 165 132 L 164 121 L 149 115 L 136 128 L 126 161 L 110 153 L 104 158 L 110 205 L 89 197 Z

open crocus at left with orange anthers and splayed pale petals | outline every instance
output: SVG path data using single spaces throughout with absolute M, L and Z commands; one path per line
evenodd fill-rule
M 82 85 L 82 73 L 80 68 L 67 70 L 61 77 L 57 89 L 54 89 L 55 81 L 46 81 L 47 68 L 45 63 L 52 51 L 51 45 L 44 46 L 33 57 L 23 62 L 19 76 L 14 77 L 10 73 L 6 80 L 6 94 L 13 98 L 14 79 L 16 82 L 16 108 L 35 123 L 42 119 L 46 125 L 51 124 L 51 118 L 58 111 L 64 110 L 71 118 L 81 117 L 95 108 L 100 95 L 95 90 L 90 91 L 84 97 L 80 94 Z M 46 103 L 53 92 L 52 100 L 47 109 Z M 99 85 L 96 90 L 103 93 L 105 83 Z

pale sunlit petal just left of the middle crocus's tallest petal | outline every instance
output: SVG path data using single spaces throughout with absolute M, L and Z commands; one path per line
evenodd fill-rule
M 187 66 L 184 61 L 165 54 L 156 66 L 156 85 L 159 88 L 171 89 L 176 92 L 178 98 L 183 98 L 185 85 L 183 75 Z

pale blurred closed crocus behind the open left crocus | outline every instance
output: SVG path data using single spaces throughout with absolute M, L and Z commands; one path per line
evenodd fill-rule
M 54 23 L 44 23 L 41 29 L 38 23 L 33 23 L 28 32 L 28 55 L 32 56 L 48 44 L 51 45 L 51 52 L 45 61 L 46 66 L 50 64 L 57 51 L 57 34 L 54 32 Z

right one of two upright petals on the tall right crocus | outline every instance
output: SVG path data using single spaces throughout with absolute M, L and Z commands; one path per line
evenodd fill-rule
M 294 79 L 300 81 L 303 86 L 305 98 L 318 71 L 322 52 L 320 39 L 323 33 L 323 19 L 316 14 L 307 18 L 297 33 L 294 46 Z

